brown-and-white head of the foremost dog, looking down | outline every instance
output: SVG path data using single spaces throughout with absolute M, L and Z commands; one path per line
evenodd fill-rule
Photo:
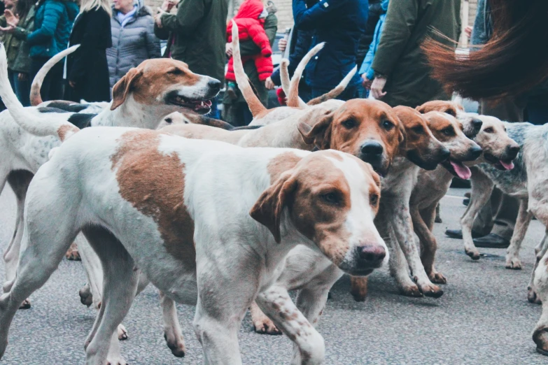
M 268 170 L 272 185 L 250 215 L 276 242 L 297 229 L 312 248 L 351 275 L 367 275 L 387 262 L 388 250 L 373 223 L 380 178 L 369 164 L 334 150 L 305 157 L 284 152 Z

